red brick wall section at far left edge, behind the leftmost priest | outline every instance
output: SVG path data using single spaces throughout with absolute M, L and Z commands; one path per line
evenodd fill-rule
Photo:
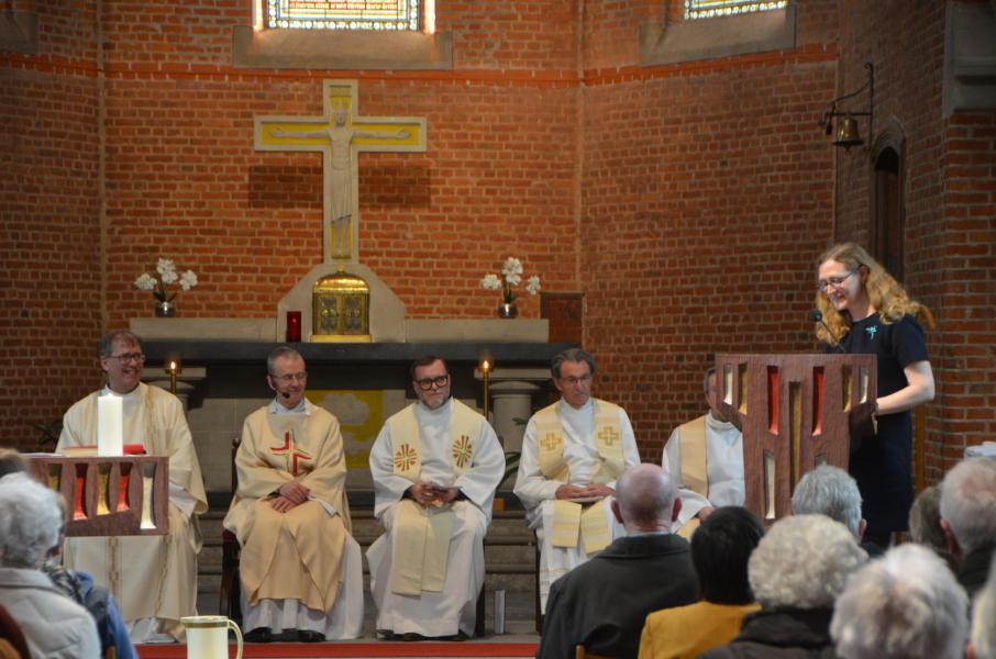
M 0 52 L 0 446 L 29 449 L 99 384 L 93 13 L 62 4 L 34 3 L 40 56 Z

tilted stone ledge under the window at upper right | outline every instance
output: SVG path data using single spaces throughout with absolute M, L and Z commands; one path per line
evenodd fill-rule
M 796 8 L 640 26 L 640 65 L 657 66 L 796 46 Z

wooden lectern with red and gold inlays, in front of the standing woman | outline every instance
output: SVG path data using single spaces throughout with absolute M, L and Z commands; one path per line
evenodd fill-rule
M 719 355 L 716 395 L 743 433 L 744 506 L 770 526 L 819 465 L 848 469 L 848 417 L 875 401 L 874 355 Z

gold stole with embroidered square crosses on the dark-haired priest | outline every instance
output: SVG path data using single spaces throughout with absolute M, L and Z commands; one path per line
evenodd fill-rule
M 595 447 L 601 466 L 591 479 L 595 483 L 609 483 L 622 473 L 622 428 L 619 425 L 618 405 L 593 400 L 595 404 Z M 540 448 L 540 472 L 550 480 L 568 482 L 571 470 L 564 461 L 564 427 L 556 411 L 556 403 L 536 412 L 536 437 Z M 609 546 L 612 534 L 606 520 L 601 500 L 585 509 L 579 503 L 556 499 L 553 502 L 554 547 L 577 547 L 578 533 L 585 541 L 587 554 Z

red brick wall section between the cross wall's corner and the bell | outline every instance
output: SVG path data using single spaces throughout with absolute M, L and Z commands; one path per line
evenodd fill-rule
M 835 4 L 799 8 L 794 52 L 640 68 L 633 3 L 588 18 L 582 263 L 598 394 L 630 413 L 644 459 L 705 409 L 717 353 L 811 350 L 814 261 L 831 234 Z M 610 15 L 611 14 L 611 15 Z M 821 23 L 815 23 L 812 16 Z M 586 33 L 587 34 L 587 33 Z

